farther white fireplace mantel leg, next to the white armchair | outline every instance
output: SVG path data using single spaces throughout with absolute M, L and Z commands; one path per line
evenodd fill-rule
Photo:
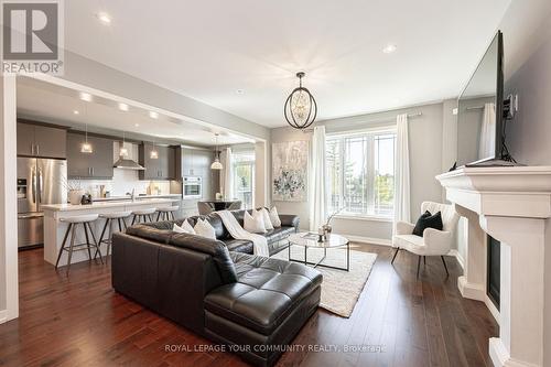
M 457 287 L 464 298 L 486 300 L 486 234 L 480 228 L 478 214 L 463 206 L 455 205 L 457 213 L 467 219 L 466 258 L 463 277 L 457 279 Z

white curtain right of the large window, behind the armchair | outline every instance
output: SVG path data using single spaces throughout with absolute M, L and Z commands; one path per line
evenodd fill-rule
M 398 115 L 395 153 L 395 229 L 397 222 L 410 222 L 410 151 L 408 145 L 408 114 Z

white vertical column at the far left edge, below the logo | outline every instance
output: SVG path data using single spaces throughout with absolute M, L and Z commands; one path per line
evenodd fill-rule
M 0 324 L 19 316 L 15 77 L 0 76 Z

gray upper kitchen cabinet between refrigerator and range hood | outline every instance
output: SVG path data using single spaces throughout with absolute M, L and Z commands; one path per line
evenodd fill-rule
M 67 133 L 67 175 L 74 179 L 112 177 L 112 140 L 88 136 L 91 153 L 80 152 L 86 137 L 82 133 Z

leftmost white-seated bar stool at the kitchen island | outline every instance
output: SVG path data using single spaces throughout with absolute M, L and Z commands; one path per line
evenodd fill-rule
M 90 223 L 97 220 L 98 215 L 97 214 L 87 214 L 87 215 L 78 215 L 74 217 L 68 217 L 68 218 L 62 218 L 61 222 L 68 223 L 67 226 L 67 231 L 65 231 L 65 237 L 63 237 L 63 242 L 62 242 L 62 248 L 60 249 L 60 253 L 57 255 L 57 261 L 55 261 L 55 269 L 57 270 L 57 266 L 60 265 L 60 259 L 62 258 L 63 251 L 68 252 L 68 258 L 67 258 L 67 274 L 71 268 L 71 258 L 73 257 L 74 251 L 82 251 L 82 250 L 88 250 L 88 258 L 91 261 L 91 251 L 90 249 L 96 249 L 97 252 L 99 252 L 99 260 L 101 263 L 104 263 L 104 260 L 101 260 L 101 251 L 99 250 L 98 242 L 96 241 L 96 236 L 94 236 L 94 230 L 91 230 Z M 82 224 L 84 228 L 84 235 L 86 237 L 86 242 L 85 244 L 75 244 L 75 228 L 77 225 Z M 88 237 L 88 230 L 91 234 L 91 238 L 94 239 L 94 242 L 90 242 L 90 239 Z M 66 242 L 68 235 L 71 233 L 71 244 L 68 248 L 66 248 Z

